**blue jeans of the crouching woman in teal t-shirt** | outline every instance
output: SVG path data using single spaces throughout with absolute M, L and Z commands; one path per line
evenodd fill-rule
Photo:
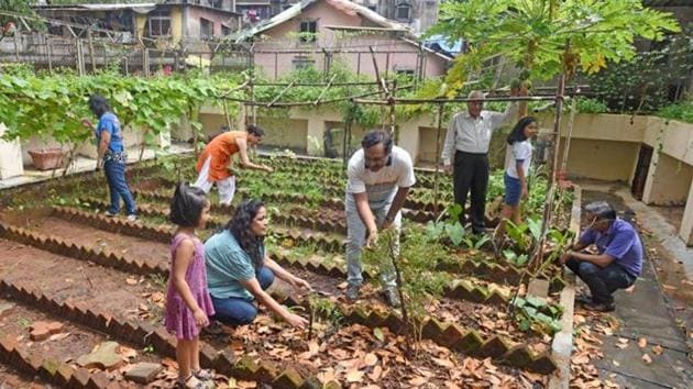
M 274 282 L 274 273 L 266 267 L 257 271 L 257 281 L 263 290 L 270 288 Z M 229 325 L 250 324 L 257 316 L 257 307 L 253 303 L 255 300 L 245 300 L 238 297 L 229 297 L 218 299 L 211 296 L 215 305 L 215 315 L 211 318 Z

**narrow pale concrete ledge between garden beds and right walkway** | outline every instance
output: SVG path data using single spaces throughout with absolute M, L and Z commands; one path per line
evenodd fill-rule
M 570 230 L 580 236 L 580 211 L 582 207 L 582 189 L 574 187 L 575 199 L 571 209 Z M 561 332 L 553 336 L 551 355 L 558 364 L 558 370 L 549 379 L 550 389 L 568 389 L 570 387 L 570 356 L 573 352 L 573 311 L 575 309 L 575 276 L 572 271 L 563 269 L 565 288 L 561 291 Z

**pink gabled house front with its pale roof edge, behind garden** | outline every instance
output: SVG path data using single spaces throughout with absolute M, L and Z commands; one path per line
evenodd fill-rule
M 420 46 L 406 25 L 346 0 L 296 4 L 245 35 L 253 37 L 254 62 L 268 77 L 315 65 L 324 70 L 336 62 L 375 77 L 370 47 L 381 75 L 444 75 L 451 58 Z

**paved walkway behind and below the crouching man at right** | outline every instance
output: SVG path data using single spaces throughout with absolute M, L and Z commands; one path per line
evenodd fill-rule
M 660 241 L 669 251 L 669 255 L 680 260 L 693 262 L 693 251 L 685 245 L 682 248 L 666 236 L 673 227 L 657 211 L 632 199 L 627 189 L 583 186 L 583 204 L 595 200 L 609 201 L 622 216 L 635 215 L 644 227 L 653 233 L 652 238 Z M 672 235 L 675 237 L 675 234 Z M 648 238 L 645 240 L 646 251 L 647 242 Z M 690 277 L 691 273 L 686 268 L 686 276 Z M 688 359 L 691 349 L 657 280 L 654 264 L 647 260 L 635 290 L 630 293 L 618 291 L 615 300 L 616 311 L 613 315 L 620 325 L 614 336 L 603 338 L 604 358 L 595 362 L 601 378 L 609 379 L 623 388 L 693 388 L 693 364 Z M 689 307 L 691 308 L 693 307 Z M 617 347 L 619 337 L 629 340 L 627 347 Z M 637 344 L 641 337 L 648 342 L 642 348 Z M 652 351 L 656 345 L 662 347 L 661 355 Z M 652 359 L 650 364 L 642 359 L 646 353 Z

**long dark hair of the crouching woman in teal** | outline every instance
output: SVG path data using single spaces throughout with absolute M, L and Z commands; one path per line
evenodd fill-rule
M 264 262 L 262 247 L 265 237 L 255 236 L 251 231 L 251 223 L 263 207 L 265 204 L 261 200 L 245 200 L 241 202 L 229 223 L 223 227 L 223 230 L 228 230 L 235 237 L 239 246 L 251 257 L 255 271 L 262 267 Z

